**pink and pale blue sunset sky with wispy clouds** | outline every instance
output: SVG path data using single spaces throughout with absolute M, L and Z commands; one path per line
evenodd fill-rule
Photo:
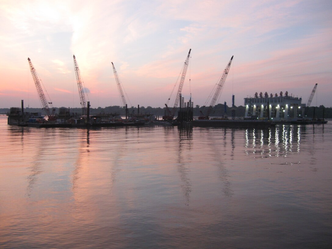
M 73 55 L 91 108 L 210 105 L 234 56 L 218 103 L 244 105 L 255 92 L 332 106 L 332 1 L 0 1 L 0 108 L 41 108 L 28 57 L 54 107 L 80 107 Z M 176 85 L 175 85 L 176 84 Z

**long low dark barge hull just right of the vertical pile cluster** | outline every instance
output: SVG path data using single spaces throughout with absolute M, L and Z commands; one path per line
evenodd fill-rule
M 267 120 L 194 120 L 193 126 L 198 127 L 272 127 L 276 124 Z

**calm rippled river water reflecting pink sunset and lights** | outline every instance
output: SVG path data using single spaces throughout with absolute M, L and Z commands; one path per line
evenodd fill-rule
M 0 248 L 331 248 L 331 120 L 0 137 Z

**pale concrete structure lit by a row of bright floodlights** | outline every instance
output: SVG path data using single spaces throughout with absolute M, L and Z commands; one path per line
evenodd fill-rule
M 253 98 L 244 98 L 244 106 L 246 107 L 245 119 L 268 119 L 273 121 L 295 121 L 302 118 L 302 109 L 305 104 L 301 103 L 302 98 L 289 96 L 288 92 L 279 96 L 268 95 L 261 92 L 258 96 L 257 92 Z

